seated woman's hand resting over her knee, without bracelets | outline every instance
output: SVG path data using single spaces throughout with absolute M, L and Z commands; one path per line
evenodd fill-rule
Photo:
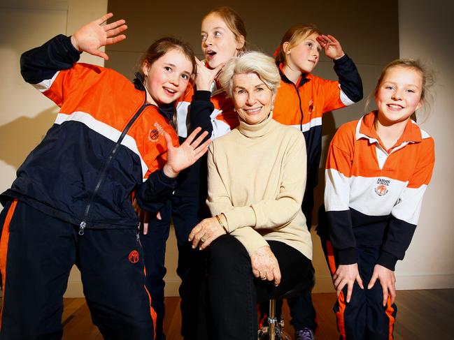
M 274 286 L 281 283 L 281 269 L 278 260 L 269 246 L 261 246 L 250 256 L 250 264 L 253 267 L 255 277 L 274 281 Z

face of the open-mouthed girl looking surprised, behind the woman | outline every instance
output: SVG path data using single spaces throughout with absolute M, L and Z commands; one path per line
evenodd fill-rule
M 209 68 L 216 68 L 236 56 L 244 45 L 244 38 L 234 33 L 219 15 L 212 13 L 201 22 L 201 50 Z

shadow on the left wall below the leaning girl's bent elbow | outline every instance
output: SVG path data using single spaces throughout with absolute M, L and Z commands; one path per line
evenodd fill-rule
M 43 140 L 57 112 L 57 107 L 50 108 L 35 117 L 20 117 L 0 126 L 0 160 L 17 170 L 30 151 Z

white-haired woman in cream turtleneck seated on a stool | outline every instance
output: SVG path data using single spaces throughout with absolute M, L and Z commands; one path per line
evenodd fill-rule
M 306 147 L 300 131 L 273 119 L 281 77 L 271 57 L 230 59 L 220 77 L 240 124 L 208 149 L 214 217 L 190 233 L 208 247 L 210 339 L 257 339 L 257 302 L 313 281 L 311 235 L 301 203 Z

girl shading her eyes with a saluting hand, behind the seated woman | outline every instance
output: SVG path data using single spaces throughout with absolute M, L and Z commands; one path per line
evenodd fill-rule
M 326 80 L 311 74 L 321 49 L 333 59 L 339 80 Z M 274 103 L 273 117 L 282 124 L 295 126 L 306 139 L 307 181 L 302 210 L 310 229 L 313 189 L 318 183 L 322 149 L 322 116 L 325 112 L 360 101 L 362 81 L 352 59 L 343 53 L 339 41 L 333 36 L 322 35 L 313 25 L 298 25 L 285 32 L 276 50 L 276 63 L 281 71 L 281 87 Z M 313 339 L 316 323 L 311 293 L 288 302 L 296 338 Z

